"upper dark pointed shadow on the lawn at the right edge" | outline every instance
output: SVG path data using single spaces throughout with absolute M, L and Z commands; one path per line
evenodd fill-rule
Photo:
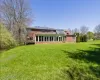
M 96 45 L 97 47 L 90 47 L 89 50 L 79 50 L 75 52 L 69 52 L 66 50 L 62 50 L 66 53 L 70 58 L 85 60 L 87 62 L 95 62 L 100 64 L 100 44 L 92 44 Z

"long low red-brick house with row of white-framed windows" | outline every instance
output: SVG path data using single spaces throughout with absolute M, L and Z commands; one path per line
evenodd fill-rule
M 27 28 L 26 43 L 66 43 L 76 42 L 76 36 L 63 29 L 47 27 Z

